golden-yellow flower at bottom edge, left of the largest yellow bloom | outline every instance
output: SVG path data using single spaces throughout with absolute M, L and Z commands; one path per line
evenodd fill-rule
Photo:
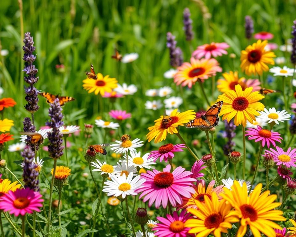
M 195 200 L 195 204 L 199 210 L 194 208 L 187 209 L 188 212 L 197 218 L 188 219 L 185 227 L 190 227 L 188 233 L 196 233 L 198 237 L 205 237 L 212 233 L 215 237 L 220 237 L 221 232 L 227 233 L 227 229 L 232 228 L 234 222 L 239 222 L 232 206 L 223 200 L 219 202 L 216 193 L 212 194 L 212 200 L 204 195 L 205 203 Z

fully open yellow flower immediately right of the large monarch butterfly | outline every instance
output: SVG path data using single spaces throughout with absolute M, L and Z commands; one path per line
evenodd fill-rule
M 258 91 L 252 92 L 253 87 L 248 87 L 244 91 L 241 85 L 236 85 L 235 90 L 229 90 L 223 95 L 219 95 L 217 101 L 223 101 L 220 114 L 222 119 L 229 122 L 234 117 L 234 124 L 246 126 L 247 120 L 253 123 L 258 111 L 264 109 L 264 105 L 259 100 L 264 98 Z

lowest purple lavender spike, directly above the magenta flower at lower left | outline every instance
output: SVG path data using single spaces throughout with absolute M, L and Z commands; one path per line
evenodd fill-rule
M 23 181 L 25 183 L 25 188 L 33 189 L 34 191 L 39 191 L 39 173 L 35 170 L 37 164 L 34 163 L 33 158 L 35 153 L 32 152 L 30 146 L 26 146 L 21 152 L 24 157 L 24 167 L 23 167 Z

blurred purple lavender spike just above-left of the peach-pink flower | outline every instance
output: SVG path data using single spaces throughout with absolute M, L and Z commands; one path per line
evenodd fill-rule
M 171 32 L 167 32 L 167 48 L 170 50 L 170 64 L 173 67 L 179 67 L 183 63 L 183 53 L 182 50 L 177 47 L 177 41 L 175 41 L 175 36 Z

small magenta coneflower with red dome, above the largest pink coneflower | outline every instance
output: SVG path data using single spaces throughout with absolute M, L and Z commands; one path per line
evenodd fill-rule
M 158 151 L 152 151 L 150 152 L 148 159 L 154 158 L 154 162 L 159 158 L 159 161 L 162 162 L 164 159 L 164 162 L 167 162 L 167 158 L 173 159 L 174 152 L 183 152 L 182 148 L 186 148 L 184 144 L 176 144 L 173 145 L 172 143 L 162 145 L 158 148 Z

